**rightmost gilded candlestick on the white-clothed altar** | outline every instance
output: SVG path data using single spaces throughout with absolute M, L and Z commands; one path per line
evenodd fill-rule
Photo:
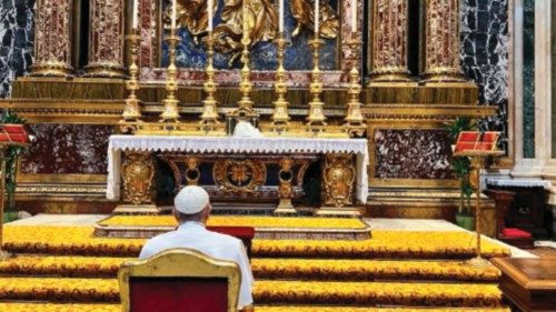
M 351 33 L 351 39 L 348 44 L 351 48 L 351 52 L 356 53 L 359 51 L 361 46 L 361 40 L 359 39 L 358 32 Z M 346 118 L 344 123 L 344 130 L 349 134 L 349 137 L 364 137 L 366 127 L 364 124 L 364 119 L 361 114 L 361 82 L 359 76 L 359 69 L 357 68 L 357 63 L 354 62 L 351 67 L 351 71 L 349 72 L 350 81 L 349 81 L 349 103 L 347 107 Z

